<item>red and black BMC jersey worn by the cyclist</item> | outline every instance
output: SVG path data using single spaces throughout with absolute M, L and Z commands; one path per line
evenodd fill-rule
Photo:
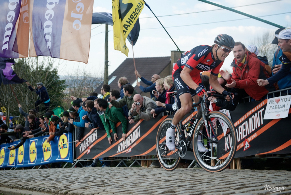
M 212 46 L 200 45 L 181 54 L 180 59 L 173 68 L 173 73 L 178 69 L 181 72 L 184 67 L 187 67 L 192 70 L 190 73 L 192 78 L 207 70 L 212 70 L 211 74 L 217 76 L 222 64 L 221 60 L 215 60 Z

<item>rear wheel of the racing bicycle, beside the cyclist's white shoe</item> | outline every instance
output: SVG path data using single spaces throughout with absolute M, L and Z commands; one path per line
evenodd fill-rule
M 166 170 L 172 171 L 178 167 L 181 157 L 178 154 L 178 149 L 174 151 L 168 151 L 166 146 L 166 131 L 171 126 L 173 119 L 165 119 L 159 126 L 156 139 L 156 149 L 160 164 Z M 175 129 L 175 144 L 180 141 L 179 135 L 181 134 L 181 128 L 178 125 Z

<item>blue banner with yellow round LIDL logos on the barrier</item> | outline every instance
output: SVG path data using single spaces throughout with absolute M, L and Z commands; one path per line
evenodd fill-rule
M 72 133 L 54 137 L 51 142 L 45 140 L 49 137 L 41 136 L 27 139 L 16 150 L 8 147 L 16 146 L 20 141 L 2 144 L 0 148 L 0 168 L 39 166 L 56 162 L 73 162 Z

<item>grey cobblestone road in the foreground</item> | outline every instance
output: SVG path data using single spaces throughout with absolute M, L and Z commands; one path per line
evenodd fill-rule
M 291 194 L 291 172 L 278 170 L 95 167 L 2 170 L 0 177 L 3 194 L 270 194 L 272 187 L 285 189 L 271 194 Z

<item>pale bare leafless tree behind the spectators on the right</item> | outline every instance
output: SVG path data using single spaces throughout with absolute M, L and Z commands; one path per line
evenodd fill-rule
M 273 31 L 266 31 L 261 36 L 257 36 L 250 44 L 257 46 L 259 49 L 259 56 L 266 56 L 269 62 L 269 65 L 272 66 L 273 57 L 277 45 L 272 44 L 273 39 L 275 38 L 275 33 Z

